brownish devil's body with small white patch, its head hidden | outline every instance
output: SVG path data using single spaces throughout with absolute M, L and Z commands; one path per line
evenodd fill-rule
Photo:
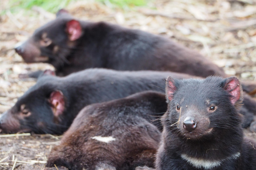
M 73 170 L 154 167 L 161 138 L 157 119 L 166 109 L 165 95 L 154 91 L 86 106 L 65 132 L 60 145 L 52 149 L 46 167 L 56 165 Z M 99 137 L 110 140 L 101 141 Z

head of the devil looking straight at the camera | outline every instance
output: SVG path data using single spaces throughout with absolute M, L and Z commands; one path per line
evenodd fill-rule
M 182 138 L 199 139 L 230 126 L 241 126 L 236 109 L 242 88 L 236 77 L 166 80 L 166 127 Z

